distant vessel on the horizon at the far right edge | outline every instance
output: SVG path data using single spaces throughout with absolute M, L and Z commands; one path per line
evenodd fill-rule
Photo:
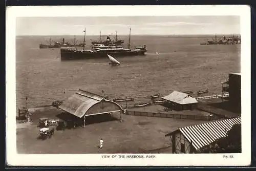
M 241 38 L 240 37 L 228 37 L 223 36 L 222 39 L 219 41 L 217 40 L 217 35 L 215 35 L 215 40 L 207 41 L 207 43 L 201 43 L 200 45 L 236 45 L 241 44 Z

